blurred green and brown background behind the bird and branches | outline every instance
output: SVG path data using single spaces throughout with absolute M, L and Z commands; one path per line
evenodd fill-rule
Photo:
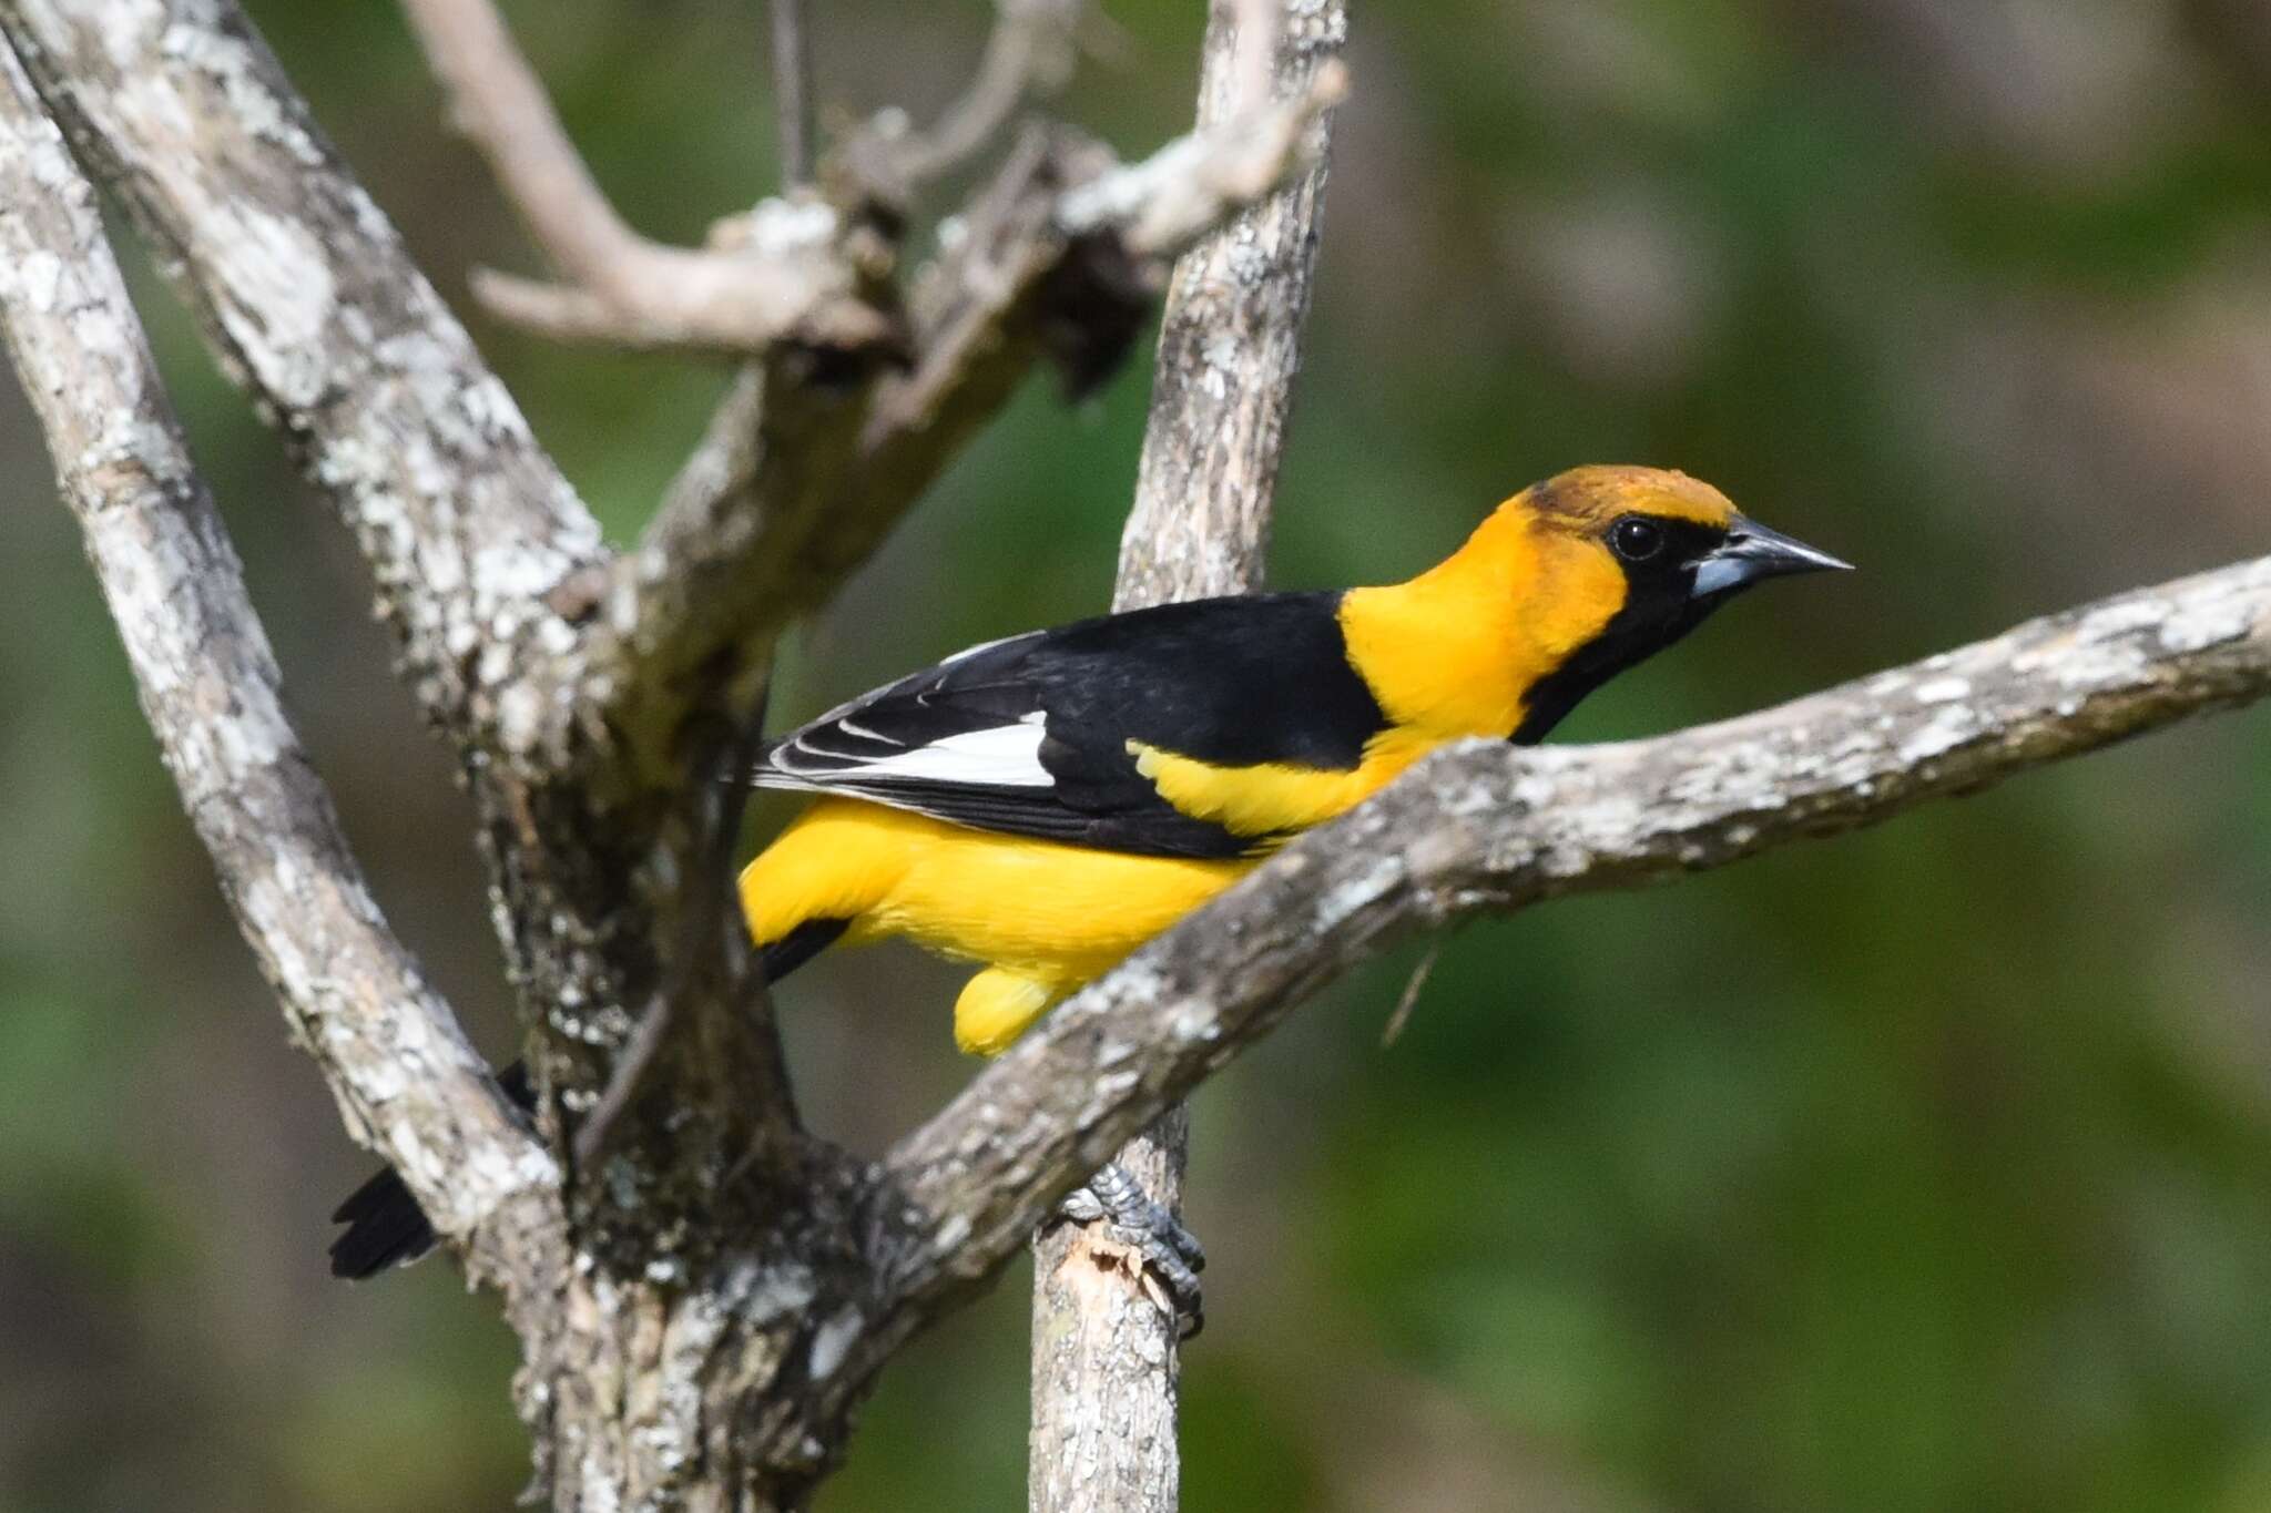
M 822 100 L 967 75 L 979 0 L 813 5 Z M 1183 127 L 1201 5 L 1111 0 L 1067 107 Z M 1585 460 L 1685 467 L 1864 572 L 1590 703 L 1667 730 L 2271 542 L 2264 0 L 1358 2 L 1272 576 L 1403 576 Z M 386 0 L 254 0 L 443 290 L 531 268 Z M 522 0 L 647 231 L 770 188 L 754 0 Z M 341 533 L 145 308 L 402 935 L 500 1053 L 468 814 Z M 629 538 L 722 372 L 477 336 Z M 1097 610 L 1142 363 L 1033 383 L 790 658 L 802 717 Z M 509 1506 L 513 1347 L 443 1266 L 347 1288 L 368 1161 L 238 944 L 45 456 L 0 395 L 0 1508 Z M 1199 1098 L 1188 1504 L 2271 1508 L 2271 717 L 1449 941 Z M 768 823 L 779 814 L 768 812 Z M 954 978 L 786 989 L 806 1102 L 938 1105 Z M 1024 1286 L 886 1377 L 829 1513 L 1020 1506 Z

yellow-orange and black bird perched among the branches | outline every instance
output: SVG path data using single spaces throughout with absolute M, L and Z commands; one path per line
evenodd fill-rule
M 1683 472 L 1587 465 L 1512 495 L 1403 583 L 972 646 L 761 746 L 749 780 L 811 803 L 740 873 L 749 937 L 774 982 L 886 937 L 977 966 L 954 1039 L 997 1055 L 1428 751 L 1540 742 L 1742 590 L 1846 567 Z M 506 1077 L 525 1100 L 520 1068 Z M 1197 1243 L 1124 1173 L 1101 1170 L 1072 1211 L 1120 1223 L 1195 1298 Z M 338 1275 L 434 1243 L 391 1173 L 334 1220 Z

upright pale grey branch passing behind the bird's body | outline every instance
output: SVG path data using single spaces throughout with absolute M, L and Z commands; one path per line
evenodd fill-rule
M 1299 98 L 1347 41 L 1347 11 L 1215 0 L 1199 64 L 1199 127 Z M 1258 23 L 1267 34 L 1256 36 Z M 1274 54 L 1274 57 L 1272 57 Z M 1256 59 L 1263 59 L 1256 66 Z M 1136 504 L 1115 610 L 1260 588 L 1285 417 L 1317 268 L 1331 118 L 1306 127 L 1315 166 L 1176 259 L 1160 313 Z M 1176 1105 L 1117 1159 L 1181 1216 L 1190 1109 Z M 1033 1239 L 1033 1513 L 1158 1511 L 1181 1502 L 1181 1345 L 1142 1259 L 1104 1225 Z

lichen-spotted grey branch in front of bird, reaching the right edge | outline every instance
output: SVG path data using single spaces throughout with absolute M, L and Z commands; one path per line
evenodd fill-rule
M 1058 1007 L 893 1150 L 908 1302 L 983 1277 L 1145 1121 L 1410 930 L 1880 823 L 2264 694 L 2271 558 L 1678 735 L 1438 753 Z

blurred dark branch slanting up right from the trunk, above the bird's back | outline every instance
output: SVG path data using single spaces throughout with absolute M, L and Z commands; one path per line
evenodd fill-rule
M 1272 118 L 1310 120 L 1310 95 L 1274 107 Z M 1197 138 L 1181 138 L 1158 159 L 1172 154 L 1201 177 L 1231 159 L 1251 170 L 1251 138 L 1263 129 L 1206 138 L 1220 152 L 1192 152 Z M 1313 161 L 1299 132 L 1279 132 L 1274 141 L 1281 150 L 1272 172 L 1242 179 L 1258 195 Z M 688 692 L 679 683 L 686 671 L 747 665 L 790 619 L 827 601 L 1036 363 L 1056 358 L 1074 386 L 1117 365 L 1147 299 L 1142 261 L 1129 256 L 1108 215 L 1090 213 L 1086 225 L 1092 229 L 1072 236 L 1063 213 L 1076 186 L 1097 179 L 1108 163 L 1104 147 L 1072 132 L 1036 129 L 1017 143 L 961 218 L 938 265 L 917 284 L 913 367 L 883 374 L 872 390 L 852 386 L 833 402 L 831 413 L 843 415 L 872 392 L 849 458 L 833 445 L 818 451 L 770 445 L 765 429 L 793 417 L 765 413 L 763 395 L 774 386 L 763 374 L 743 377 L 611 597 L 615 649 L 593 658 L 602 678 L 597 705 L 611 726 L 668 728 L 670 708 Z M 1147 243 L 1147 256 L 1181 252 L 1240 204 L 1192 195 L 1181 179 L 1156 170 L 1142 184 L 1185 209 L 1204 202 L 1215 213 L 1215 220 L 1147 215 L 1147 200 L 1115 200 L 1126 215 L 1154 227 L 1149 236 L 1172 234 Z M 822 404 L 829 399 L 806 395 L 806 406 Z M 838 433 L 831 429 L 831 436 Z M 768 501 L 765 492 L 781 488 L 781 479 L 768 474 L 768 458 L 788 456 L 820 458 L 824 467 L 806 460 L 793 488 L 777 495 L 793 495 L 790 504 Z M 840 474 L 833 474 L 836 463 L 843 463 Z M 833 492 L 818 492 L 829 479 Z M 720 662 L 727 644 L 740 653 Z M 663 683 L 625 671 L 634 665 L 661 667 Z

